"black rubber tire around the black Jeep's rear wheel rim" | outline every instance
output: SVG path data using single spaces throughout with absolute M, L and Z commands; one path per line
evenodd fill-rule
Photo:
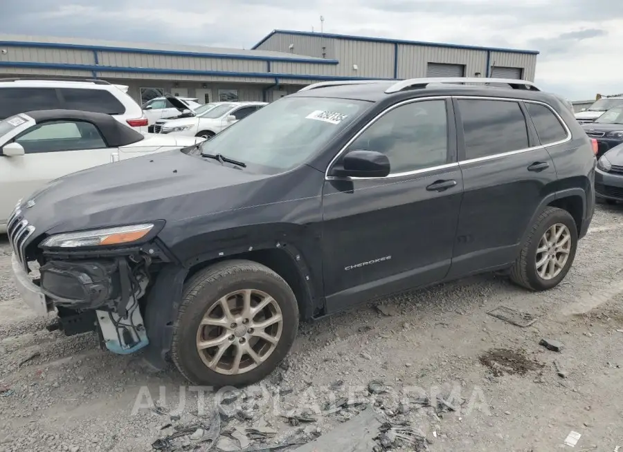
M 554 225 L 563 225 L 567 228 L 570 246 L 568 247 L 568 257 L 561 266 L 559 273 L 549 279 L 545 279 L 537 271 L 537 248 L 539 248 L 543 235 Z M 566 234 L 566 232 L 563 232 L 563 234 Z M 557 207 L 547 207 L 539 215 L 539 218 L 536 218 L 534 224 L 530 226 L 530 232 L 521 247 L 521 252 L 519 252 L 519 256 L 511 267 L 510 278 L 514 283 L 530 290 L 541 291 L 551 289 L 558 285 L 569 272 L 575 258 L 576 249 L 577 226 L 573 217 L 566 210 L 558 209 Z M 539 254 L 539 256 L 539 258 L 542 258 L 543 254 Z

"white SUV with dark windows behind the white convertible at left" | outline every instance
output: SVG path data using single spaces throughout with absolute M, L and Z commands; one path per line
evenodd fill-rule
M 0 79 L 0 121 L 25 111 L 80 110 L 147 132 L 147 117 L 123 88 L 100 79 Z

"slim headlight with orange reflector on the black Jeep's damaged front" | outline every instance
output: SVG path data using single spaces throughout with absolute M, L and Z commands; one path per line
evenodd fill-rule
M 154 227 L 153 223 L 142 225 L 108 227 L 92 231 L 67 232 L 46 238 L 41 244 L 46 248 L 77 248 L 100 245 L 123 245 L 145 237 Z

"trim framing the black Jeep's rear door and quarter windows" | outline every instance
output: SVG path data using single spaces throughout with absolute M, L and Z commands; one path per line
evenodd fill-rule
M 525 109 L 525 106 L 523 106 L 523 103 L 530 103 L 530 104 L 539 104 L 539 105 L 543 105 L 545 107 L 547 107 L 548 109 L 550 109 L 554 115 L 557 117 L 557 119 L 561 122 L 561 124 L 563 125 L 566 133 L 567 133 L 567 138 L 565 138 L 565 140 L 560 140 L 558 142 L 553 142 L 553 143 L 548 143 L 548 144 L 541 144 L 538 136 L 536 137 L 536 144 L 530 145 L 530 147 L 527 147 L 525 149 L 518 149 L 517 151 L 508 151 L 508 152 L 502 152 L 502 153 L 498 153 L 498 154 L 493 154 L 491 156 L 485 156 L 485 157 L 478 157 L 478 158 L 472 158 L 472 159 L 467 159 L 466 156 L 466 149 L 465 149 L 465 140 L 464 140 L 464 134 L 463 134 L 463 127 L 462 127 L 462 120 L 461 120 L 461 113 L 460 113 L 460 109 L 458 109 L 458 100 L 460 99 L 467 99 L 467 100 L 499 100 L 499 101 L 514 101 L 514 102 L 518 102 L 520 104 L 521 110 L 524 112 L 524 116 L 525 116 L 525 120 L 526 120 L 526 126 L 528 127 L 528 139 L 530 140 L 530 129 L 534 128 L 534 124 L 532 123 L 532 117 L 530 117 L 530 114 L 527 113 L 527 110 Z M 486 160 L 493 160 L 496 158 L 503 158 L 503 157 L 507 157 L 507 156 L 513 156 L 514 154 L 518 154 L 518 153 L 524 153 L 524 152 L 530 152 L 530 151 L 535 151 L 536 149 L 544 149 L 545 146 L 555 146 L 557 144 L 563 144 L 566 143 L 568 141 L 571 140 L 571 131 L 569 129 L 569 127 L 567 126 L 566 122 L 563 121 L 563 119 L 561 118 L 561 116 L 559 115 L 559 113 L 554 110 L 552 108 L 552 106 L 546 104 L 545 102 L 540 102 L 538 100 L 524 100 L 524 99 L 516 99 L 514 97 L 488 97 L 488 96 L 468 96 L 468 95 L 461 95 L 461 96 L 453 96 L 452 97 L 453 100 L 453 105 L 455 108 L 455 118 L 456 118 L 456 126 L 457 126 L 457 138 L 458 138 L 458 163 L 459 164 L 469 164 L 469 163 L 474 163 L 474 162 L 484 162 Z M 534 132 L 536 134 L 536 131 Z

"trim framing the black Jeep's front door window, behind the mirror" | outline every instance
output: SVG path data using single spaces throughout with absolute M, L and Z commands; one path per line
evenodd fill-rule
M 447 149 L 447 160 L 446 160 L 446 163 L 445 164 L 441 164 L 441 165 L 437 165 L 435 167 L 414 169 L 413 171 L 406 171 L 404 173 L 388 174 L 384 178 L 356 178 L 356 177 L 351 177 L 350 179 L 351 180 L 384 180 L 384 179 L 393 179 L 393 178 L 411 176 L 413 174 L 428 173 L 428 172 L 437 171 L 437 170 L 440 170 L 440 169 L 457 167 L 458 166 L 458 162 L 457 162 L 457 144 L 458 143 L 457 143 L 457 126 L 456 126 L 457 122 L 455 121 L 455 118 L 454 118 L 454 111 L 455 111 L 455 109 L 454 109 L 453 104 L 452 104 L 452 96 L 450 96 L 450 95 L 440 95 L 440 96 L 430 96 L 430 97 L 416 97 L 415 99 L 403 100 L 401 102 L 397 102 L 396 104 L 392 104 L 392 105 L 388 106 L 386 109 L 384 109 L 379 114 L 374 116 L 370 121 L 368 121 L 363 127 L 361 127 L 361 129 L 359 129 L 359 131 L 357 131 L 352 136 L 352 138 L 350 138 L 350 140 L 348 140 L 346 142 L 346 144 L 343 147 L 341 147 L 341 149 L 338 151 L 338 153 L 336 153 L 334 158 L 332 158 L 332 160 L 329 162 L 329 164 L 327 165 L 327 169 L 325 170 L 325 180 L 336 180 L 336 179 L 339 179 L 339 178 L 336 178 L 334 176 L 329 176 L 329 171 L 331 171 L 331 169 L 333 168 L 334 164 L 343 155 L 343 153 L 348 149 L 348 147 L 350 147 L 350 145 L 357 138 L 359 138 L 359 136 L 362 135 L 368 129 L 368 127 L 372 126 L 372 124 L 377 122 L 377 120 L 379 120 L 381 117 L 383 117 L 384 115 L 386 115 L 390 111 L 392 111 L 394 109 L 397 109 L 397 108 L 399 108 L 399 107 L 401 107 L 403 105 L 413 104 L 415 102 L 424 102 L 424 101 L 428 101 L 428 100 L 444 100 L 446 102 L 446 133 L 448 133 L 448 137 L 447 137 L 448 149 Z

